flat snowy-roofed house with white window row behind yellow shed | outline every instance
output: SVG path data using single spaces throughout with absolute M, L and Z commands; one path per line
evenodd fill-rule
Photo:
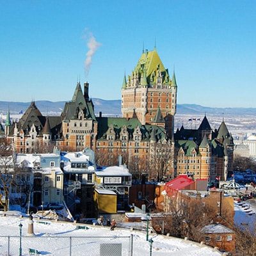
M 129 189 L 131 185 L 132 175 L 124 165 L 102 167 L 95 172 L 95 189 L 100 189 L 100 193 L 103 193 L 102 189 L 105 189 L 116 194 L 116 211 L 130 209 Z

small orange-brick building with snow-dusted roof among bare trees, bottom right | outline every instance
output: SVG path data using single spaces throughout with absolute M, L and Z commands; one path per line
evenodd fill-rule
M 236 252 L 236 234 L 221 224 L 210 224 L 202 229 L 204 243 L 226 252 Z

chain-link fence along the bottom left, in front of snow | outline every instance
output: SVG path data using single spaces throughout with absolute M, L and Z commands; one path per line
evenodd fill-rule
M 0 255 L 132 256 L 131 236 L 0 236 Z

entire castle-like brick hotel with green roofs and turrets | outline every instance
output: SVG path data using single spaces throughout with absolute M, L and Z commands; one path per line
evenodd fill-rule
M 172 77 L 172 78 L 171 78 Z M 121 82 L 122 83 L 122 82 Z M 122 84 L 122 118 L 95 115 L 89 84 L 77 83 L 61 116 L 43 116 L 31 102 L 19 122 L 6 118 L 5 136 L 17 153 L 95 152 L 101 166 L 122 156 L 129 170 L 147 173 L 150 180 L 170 180 L 181 173 L 208 182 L 227 179 L 232 170 L 234 143 L 224 123 L 212 131 L 205 116 L 198 129 L 174 132 L 177 81 L 170 76 L 156 47 L 143 51 Z

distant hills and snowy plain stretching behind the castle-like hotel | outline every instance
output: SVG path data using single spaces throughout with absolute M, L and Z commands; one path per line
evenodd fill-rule
M 102 100 L 92 99 L 94 104 L 95 115 L 99 116 L 122 116 L 121 100 Z M 37 108 L 42 115 L 60 115 L 65 101 L 51 102 L 48 100 L 37 100 Z M 31 102 L 6 102 L 0 101 L 0 117 L 3 122 L 10 108 L 11 118 L 19 118 L 22 113 L 28 109 Z M 175 129 L 184 125 L 184 127 L 196 127 L 200 120 L 207 116 L 212 129 L 219 127 L 223 118 L 232 132 L 253 131 L 256 130 L 256 108 L 209 108 L 197 104 L 177 104 L 177 114 L 175 115 Z M 193 122 L 189 122 L 189 120 Z

